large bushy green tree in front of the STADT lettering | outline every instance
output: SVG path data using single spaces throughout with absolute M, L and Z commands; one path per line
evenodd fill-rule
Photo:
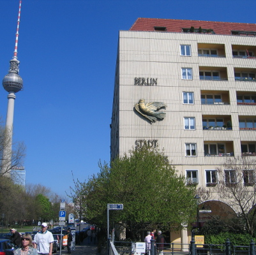
M 110 213 L 110 222 L 121 224 L 133 239 L 153 226 L 178 230 L 194 221 L 195 187 L 186 186 L 163 152 L 142 147 L 99 166 L 100 173 L 79 189 L 92 223 L 106 227 L 107 203 L 123 203 L 124 210 Z

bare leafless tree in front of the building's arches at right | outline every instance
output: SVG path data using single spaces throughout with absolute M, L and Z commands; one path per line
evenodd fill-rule
M 223 201 L 233 208 L 236 220 L 232 221 L 233 226 L 230 225 L 230 228 L 236 228 L 236 224 L 241 228 L 242 225 L 250 235 L 254 233 L 256 221 L 255 163 L 255 159 L 250 156 L 227 158 L 225 164 L 216 169 L 218 184 L 199 189 L 202 200 Z

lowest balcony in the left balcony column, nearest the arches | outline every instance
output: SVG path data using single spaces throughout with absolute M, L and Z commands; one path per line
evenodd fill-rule
M 226 141 L 205 141 L 205 157 L 231 157 L 234 156 L 233 142 Z

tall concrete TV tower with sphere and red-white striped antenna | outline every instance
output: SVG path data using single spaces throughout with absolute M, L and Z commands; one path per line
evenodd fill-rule
M 3 78 L 3 87 L 9 92 L 8 94 L 8 108 L 6 115 L 6 144 L 3 148 L 3 159 L 1 164 L 1 173 L 4 175 L 10 175 L 11 168 L 11 145 L 12 145 L 12 135 L 13 135 L 13 114 L 14 114 L 14 101 L 15 93 L 19 92 L 23 88 L 23 80 L 19 76 L 19 64 L 20 61 L 17 59 L 18 53 L 18 39 L 19 39 L 19 25 L 20 25 L 20 8 L 21 0 L 19 4 L 19 15 L 17 21 L 17 32 L 15 40 L 15 48 L 13 58 L 10 60 L 10 69 L 8 75 Z

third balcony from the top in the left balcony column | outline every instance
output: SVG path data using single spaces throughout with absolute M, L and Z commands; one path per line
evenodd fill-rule
M 230 105 L 229 91 L 201 91 L 202 105 Z

